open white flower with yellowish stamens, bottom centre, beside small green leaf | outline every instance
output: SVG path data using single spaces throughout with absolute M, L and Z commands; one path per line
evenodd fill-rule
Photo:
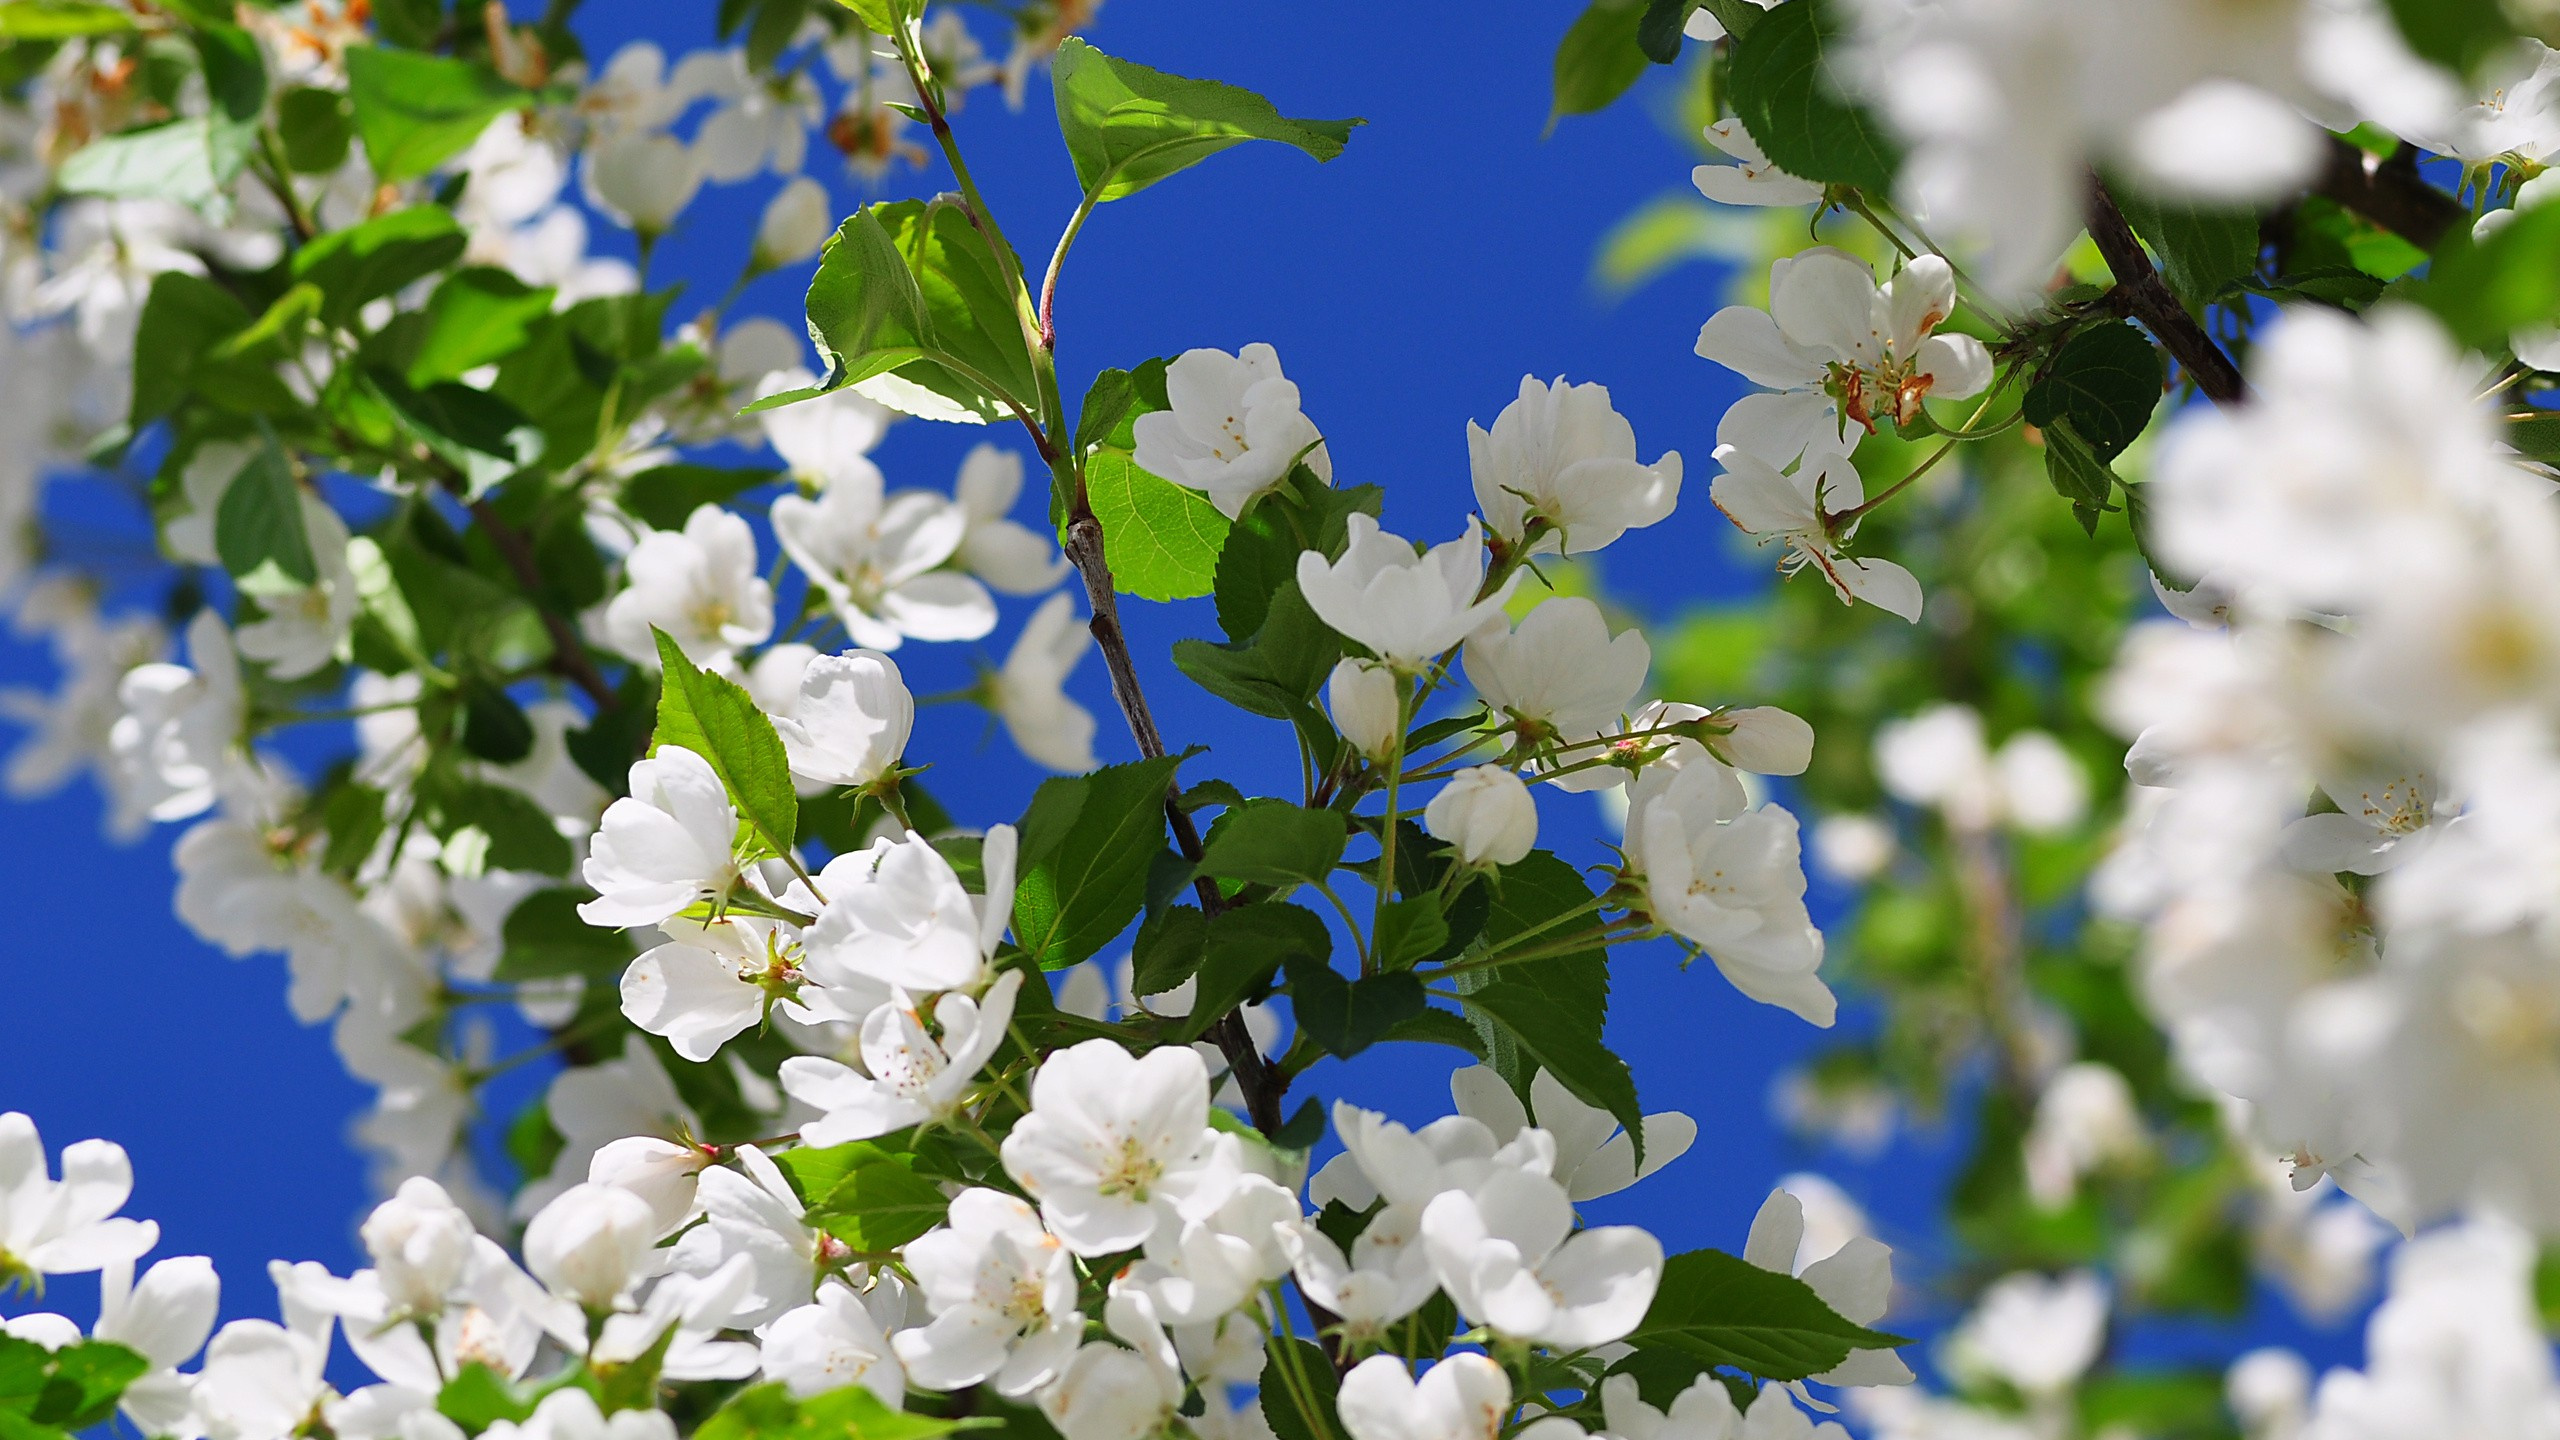
M 1057 1379 L 1085 1332 L 1075 1261 L 1004 1191 L 952 1197 L 950 1220 L 906 1245 L 906 1266 L 934 1320 L 891 1343 L 922 1389 L 993 1384 L 1019 1399 Z

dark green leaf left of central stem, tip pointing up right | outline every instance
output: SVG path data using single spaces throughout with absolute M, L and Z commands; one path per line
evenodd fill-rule
M 1165 794 L 1180 756 L 1039 781 L 1021 817 L 1014 938 L 1042 969 L 1111 943 L 1147 902 L 1147 866 L 1165 851 Z

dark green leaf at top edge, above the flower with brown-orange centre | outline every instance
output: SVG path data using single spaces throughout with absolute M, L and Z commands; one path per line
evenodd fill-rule
M 1825 184 L 1889 190 L 1902 156 L 1884 126 L 1841 100 L 1828 0 L 1779 5 L 1733 46 L 1733 110 L 1779 169 Z

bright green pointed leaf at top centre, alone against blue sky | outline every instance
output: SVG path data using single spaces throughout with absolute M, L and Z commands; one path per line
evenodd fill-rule
M 1242 141 L 1280 141 L 1318 161 L 1364 120 L 1293 120 L 1252 90 L 1114 59 L 1068 36 L 1050 69 L 1057 128 L 1093 202 L 1137 195 Z

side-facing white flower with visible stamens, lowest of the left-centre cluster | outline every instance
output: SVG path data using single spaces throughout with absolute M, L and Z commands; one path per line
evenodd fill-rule
M 870 1140 L 952 1115 L 1004 1043 L 1019 989 L 1021 971 L 1004 971 L 983 1002 L 945 994 L 934 1002 L 940 1035 L 924 1030 L 922 1007 L 904 989 L 891 989 L 888 1004 L 863 1020 L 868 1076 L 819 1056 L 783 1061 L 783 1092 L 822 1112 L 801 1125 L 801 1143 Z

